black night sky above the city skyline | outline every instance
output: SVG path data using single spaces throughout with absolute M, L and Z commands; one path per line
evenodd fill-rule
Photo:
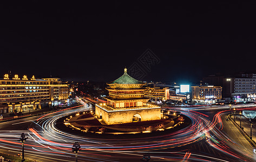
M 150 49 L 143 80 L 255 70 L 256 1 L 1 3 L 0 75 L 110 82 Z

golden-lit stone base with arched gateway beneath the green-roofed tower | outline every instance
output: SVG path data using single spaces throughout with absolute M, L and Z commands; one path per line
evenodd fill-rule
M 107 105 L 95 105 L 97 119 L 104 124 L 122 124 L 159 120 L 162 118 L 161 107 L 133 107 L 129 109 L 111 109 Z

